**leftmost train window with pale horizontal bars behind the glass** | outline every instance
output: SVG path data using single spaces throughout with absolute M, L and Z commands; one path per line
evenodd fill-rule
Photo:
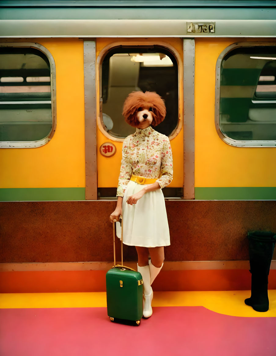
M 0 47 L 1 147 L 41 146 L 54 126 L 53 63 L 40 49 L 20 45 Z

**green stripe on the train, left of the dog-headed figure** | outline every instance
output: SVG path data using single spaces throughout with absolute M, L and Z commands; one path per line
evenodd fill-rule
M 1 188 L 0 201 L 85 200 L 85 188 Z

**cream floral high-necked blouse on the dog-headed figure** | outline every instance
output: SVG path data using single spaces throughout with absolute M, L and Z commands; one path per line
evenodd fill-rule
M 136 129 L 123 141 L 117 197 L 123 197 L 132 176 L 158 178 L 161 188 L 172 181 L 172 150 L 169 138 L 151 126 Z

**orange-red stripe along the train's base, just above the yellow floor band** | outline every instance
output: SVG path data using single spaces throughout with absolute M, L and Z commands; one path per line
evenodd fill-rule
M 106 271 L 0 272 L 0 293 L 105 292 Z M 153 284 L 156 291 L 247 290 L 247 269 L 161 271 Z M 276 270 L 269 273 L 269 289 L 276 289 Z

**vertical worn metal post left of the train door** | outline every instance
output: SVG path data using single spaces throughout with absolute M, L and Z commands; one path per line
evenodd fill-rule
M 83 41 L 85 200 L 97 200 L 96 41 Z

